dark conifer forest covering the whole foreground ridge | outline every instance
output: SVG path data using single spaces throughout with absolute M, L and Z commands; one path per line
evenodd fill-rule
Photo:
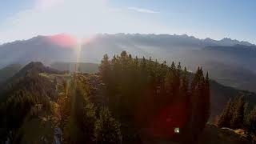
M 167 66 L 125 51 L 105 55 L 98 74 L 63 74 L 41 65 L 26 66 L 2 88 L 2 142 L 197 142 L 210 115 L 209 78 L 201 68 L 190 74 L 180 63 Z M 254 111 L 244 125 L 252 133 Z

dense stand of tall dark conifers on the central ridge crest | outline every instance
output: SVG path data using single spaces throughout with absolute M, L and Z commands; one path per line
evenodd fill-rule
M 137 57 L 133 59 L 130 54 L 127 56 L 126 52 L 122 52 L 121 57 L 114 56 L 110 61 L 110 75 L 112 77 L 106 83 L 106 91 L 111 91 L 107 96 L 114 99 L 115 107 L 113 110 L 110 104 L 110 110 L 118 119 L 130 123 L 134 119 L 135 110 L 142 109 L 140 114 L 143 118 L 138 121 L 143 122 L 166 106 L 185 102 L 184 110 L 187 111 L 184 113 L 190 117 L 190 126 L 186 126 L 186 130 L 196 138 L 209 118 L 210 83 L 208 75 L 204 77 L 201 67 L 198 67 L 190 82 L 190 75 L 186 68 L 182 70 L 180 62 L 177 68 L 174 62 L 169 67 L 166 62 L 159 64 L 151 58 L 146 61 L 144 57 L 138 61 Z M 142 103 L 146 105 L 141 108 Z

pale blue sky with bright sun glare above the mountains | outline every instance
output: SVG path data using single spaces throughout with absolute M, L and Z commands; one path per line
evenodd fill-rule
M 0 43 L 63 33 L 142 33 L 255 44 L 255 6 L 255 0 L 1 0 Z

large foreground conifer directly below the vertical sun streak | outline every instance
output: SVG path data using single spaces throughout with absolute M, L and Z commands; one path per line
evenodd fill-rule
M 87 94 L 82 83 L 74 78 L 70 82 L 66 97 L 59 101 L 64 143 L 90 143 L 94 140 L 96 112 Z

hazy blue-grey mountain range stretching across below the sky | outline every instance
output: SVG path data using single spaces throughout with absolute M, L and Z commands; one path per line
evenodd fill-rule
M 167 64 L 182 62 L 191 71 L 202 66 L 221 84 L 256 92 L 256 46 L 230 38 L 217 41 L 186 34 L 97 34 L 78 43 L 68 34 L 38 36 L 1 45 L 0 68 L 31 61 L 47 66 L 55 62 L 99 63 L 103 54 L 112 57 L 122 50 L 138 58 L 166 60 Z

